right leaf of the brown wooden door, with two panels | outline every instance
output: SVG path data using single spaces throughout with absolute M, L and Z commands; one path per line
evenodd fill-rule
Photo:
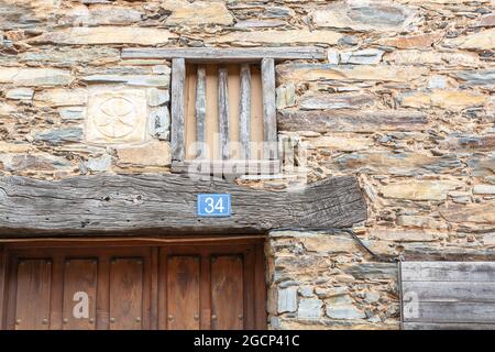
M 262 244 L 161 251 L 160 329 L 266 328 Z

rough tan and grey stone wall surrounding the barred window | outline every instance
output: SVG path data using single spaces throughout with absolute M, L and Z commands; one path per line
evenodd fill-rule
M 122 48 L 328 50 L 277 65 L 279 139 L 309 148 L 310 180 L 360 178 L 354 231 L 375 255 L 348 232 L 272 232 L 274 329 L 395 329 L 396 258 L 495 257 L 494 0 L 0 0 L 0 13 L 2 175 L 169 172 L 170 63 Z

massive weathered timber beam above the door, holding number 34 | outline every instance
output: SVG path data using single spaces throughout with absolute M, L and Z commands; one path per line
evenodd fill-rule
M 198 218 L 198 194 L 230 194 L 232 216 Z M 252 189 L 185 175 L 98 175 L 58 182 L 0 178 L 0 235 L 264 233 L 348 228 L 366 219 L 352 176 L 294 191 Z

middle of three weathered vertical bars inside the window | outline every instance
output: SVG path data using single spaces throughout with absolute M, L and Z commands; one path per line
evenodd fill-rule
M 227 68 L 218 70 L 218 119 L 220 132 L 220 155 L 229 158 L 229 73 Z

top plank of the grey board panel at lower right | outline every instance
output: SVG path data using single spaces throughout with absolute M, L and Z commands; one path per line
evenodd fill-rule
M 495 282 L 495 262 L 404 262 L 403 282 Z

